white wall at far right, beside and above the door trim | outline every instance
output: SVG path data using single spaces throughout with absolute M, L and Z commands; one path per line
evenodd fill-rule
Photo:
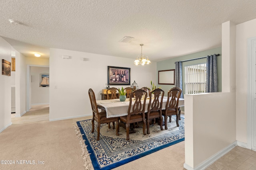
M 247 143 L 247 41 L 256 37 L 256 19 L 236 25 L 236 140 Z

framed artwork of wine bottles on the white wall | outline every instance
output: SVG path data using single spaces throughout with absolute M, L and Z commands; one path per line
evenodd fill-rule
M 130 85 L 131 68 L 108 66 L 108 85 Z

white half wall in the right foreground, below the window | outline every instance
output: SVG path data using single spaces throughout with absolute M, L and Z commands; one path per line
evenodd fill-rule
M 236 142 L 236 98 L 234 92 L 184 96 L 185 164 L 189 169 L 197 169 L 212 155 Z

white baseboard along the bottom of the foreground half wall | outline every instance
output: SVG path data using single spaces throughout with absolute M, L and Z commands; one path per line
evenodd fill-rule
M 237 141 L 229 145 L 228 147 L 220 150 L 216 154 L 212 155 L 210 158 L 206 159 L 204 162 L 202 162 L 200 165 L 196 166 L 195 168 L 192 168 L 188 164 L 184 163 L 183 167 L 187 170 L 202 170 L 206 169 L 208 166 L 210 166 L 213 162 L 218 160 L 220 157 L 222 157 L 224 154 L 228 153 L 230 150 L 232 150 L 234 147 L 236 147 Z

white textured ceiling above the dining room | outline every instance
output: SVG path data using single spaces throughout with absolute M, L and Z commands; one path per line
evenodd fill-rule
M 222 23 L 255 19 L 256 0 L 1 0 L 0 10 L 0 36 L 27 57 L 58 48 L 135 59 L 143 43 L 161 61 L 221 47 Z

